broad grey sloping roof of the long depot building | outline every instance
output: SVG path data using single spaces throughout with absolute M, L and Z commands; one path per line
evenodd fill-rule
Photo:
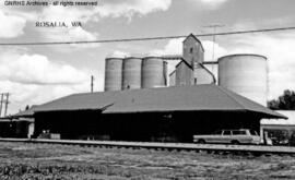
M 102 110 L 103 113 L 252 111 L 263 118 L 286 118 L 217 85 L 73 94 L 35 108 L 35 111 L 59 110 Z

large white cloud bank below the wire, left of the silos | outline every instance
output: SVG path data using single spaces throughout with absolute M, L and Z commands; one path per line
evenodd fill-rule
M 72 93 L 90 91 L 90 70 L 58 63 L 43 55 L 0 55 L 0 92 L 11 93 L 9 112 Z M 97 77 L 97 81 L 102 81 Z

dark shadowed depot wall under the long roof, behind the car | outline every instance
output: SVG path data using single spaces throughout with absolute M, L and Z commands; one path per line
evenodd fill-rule
M 98 111 L 37 112 L 35 136 L 43 130 L 60 133 L 61 139 L 111 141 L 192 142 L 193 134 L 209 134 L 220 129 L 259 130 L 260 118 L 248 112 L 141 112 Z

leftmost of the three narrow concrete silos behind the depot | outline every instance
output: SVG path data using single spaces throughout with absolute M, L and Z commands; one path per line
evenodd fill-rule
M 121 91 L 122 58 L 106 58 L 105 92 Z

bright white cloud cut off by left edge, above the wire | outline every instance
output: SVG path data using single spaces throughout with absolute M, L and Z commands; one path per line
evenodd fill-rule
M 0 10 L 0 38 L 13 38 L 24 34 L 26 20 L 17 15 L 9 15 Z

